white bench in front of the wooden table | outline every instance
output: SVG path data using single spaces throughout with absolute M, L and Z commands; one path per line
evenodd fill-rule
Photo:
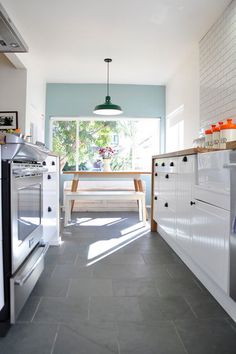
M 71 220 L 71 203 L 74 200 L 136 200 L 138 201 L 139 220 L 146 225 L 145 193 L 136 191 L 86 191 L 67 192 L 64 196 L 64 225 Z

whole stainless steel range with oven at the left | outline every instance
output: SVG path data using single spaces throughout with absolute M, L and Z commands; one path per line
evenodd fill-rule
M 13 135 L 2 147 L 2 220 L 5 304 L 0 334 L 15 323 L 44 268 L 42 182 L 47 154 Z

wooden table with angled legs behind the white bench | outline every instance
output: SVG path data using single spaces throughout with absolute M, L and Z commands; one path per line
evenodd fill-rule
M 80 179 L 132 179 L 134 181 L 134 189 L 136 192 L 144 192 L 141 175 L 151 175 L 151 172 L 147 171 L 65 171 L 65 175 L 73 175 L 71 192 L 76 192 Z M 72 203 L 72 209 L 74 202 Z

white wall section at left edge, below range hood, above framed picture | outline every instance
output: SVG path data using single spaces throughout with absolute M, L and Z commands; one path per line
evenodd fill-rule
M 16 69 L 0 54 L 0 111 L 18 111 L 18 127 L 25 131 L 26 115 L 25 69 Z

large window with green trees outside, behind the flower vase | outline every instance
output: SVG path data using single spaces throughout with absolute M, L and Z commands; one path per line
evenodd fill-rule
M 115 150 L 112 170 L 150 170 L 159 153 L 159 119 L 51 118 L 51 149 L 63 170 L 101 170 L 100 147 Z

